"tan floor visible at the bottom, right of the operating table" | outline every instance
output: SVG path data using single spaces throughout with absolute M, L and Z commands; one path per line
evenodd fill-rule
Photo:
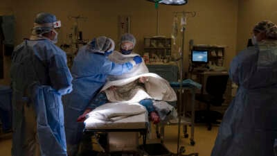
M 190 127 L 188 127 L 188 138 L 184 138 L 181 134 L 180 146 L 185 146 L 186 152 L 184 153 L 199 153 L 199 156 L 211 155 L 211 150 L 217 135 L 217 126 L 213 126 L 209 131 L 204 124 L 195 125 L 195 146 L 190 145 Z M 177 125 L 168 125 L 165 128 L 164 144 L 168 150 L 172 153 L 177 153 Z M 159 143 L 159 139 L 156 139 L 156 133 L 154 127 L 152 128 L 151 139 L 147 140 L 147 143 Z M 0 156 L 10 156 L 11 139 L 5 139 L 0 137 Z

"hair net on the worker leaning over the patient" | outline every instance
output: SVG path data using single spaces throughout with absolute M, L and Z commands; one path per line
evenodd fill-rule
M 114 51 L 114 40 L 105 36 L 96 37 L 89 43 L 89 48 L 100 53 Z

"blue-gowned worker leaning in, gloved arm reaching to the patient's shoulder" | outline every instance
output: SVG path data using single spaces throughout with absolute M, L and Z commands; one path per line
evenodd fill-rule
M 82 138 L 84 123 L 77 122 L 78 116 L 84 113 L 89 101 L 105 84 L 107 76 L 121 75 L 142 62 L 140 56 L 123 64 L 111 62 L 108 55 L 114 51 L 114 46 L 114 41 L 109 37 L 96 37 L 82 46 L 74 58 L 71 70 L 73 92 L 63 98 L 66 142 L 70 156 L 77 155 Z

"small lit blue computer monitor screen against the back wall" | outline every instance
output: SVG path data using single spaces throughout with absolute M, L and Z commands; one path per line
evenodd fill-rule
M 208 51 L 207 50 L 191 51 L 191 61 L 193 63 L 208 63 Z

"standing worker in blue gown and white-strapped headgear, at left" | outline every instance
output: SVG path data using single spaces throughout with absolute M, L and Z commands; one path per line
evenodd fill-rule
M 12 54 L 12 156 L 66 156 L 62 95 L 72 90 L 55 15 L 39 13 Z

